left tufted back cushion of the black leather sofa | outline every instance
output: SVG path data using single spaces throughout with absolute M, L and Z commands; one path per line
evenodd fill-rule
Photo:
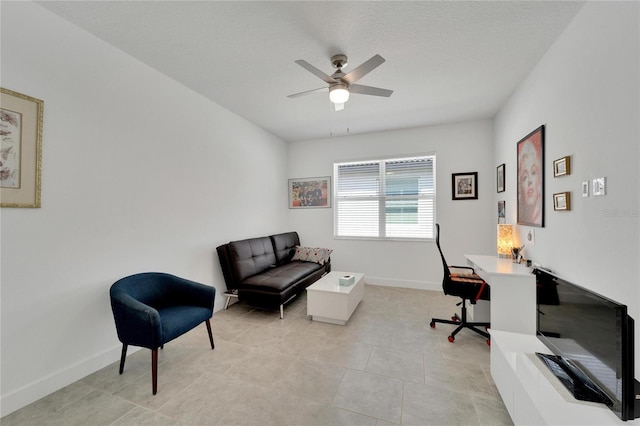
M 231 241 L 229 252 L 233 275 L 237 281 L 259 274 L 276 264 L 276 256 L 269 237 Z

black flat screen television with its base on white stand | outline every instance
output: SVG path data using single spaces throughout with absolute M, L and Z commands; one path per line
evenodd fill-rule
M 553 354 L 538 357 L 576 399 L 605 404 L 622 420 L 640 417 L 627 306 L 547 270 L 534 274 L 537 335 Z

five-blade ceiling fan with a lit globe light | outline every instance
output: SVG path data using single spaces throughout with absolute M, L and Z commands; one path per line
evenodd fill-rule
M 311 65 L 309 62 L 298 59 L 296 64 L 309 71 L 311 74 L 319 77 L 329 86 L 321 87 L 319 89 L 307 90 L 305 92 L 294 93 L 289 95 L 289 98 L 297 98 L 298 96 L 308 95 L 316 92 L 329 91 L 329 99 L 333 102 L 336 111 L 344 109 L 344 103 L 349 100 L 350 93 L 358 93 L 360 95 L 373 95 L 389 97 L 393 93 L 393 90 L 380 89 L 379 87 L 363 86 L 361 84 L 355 84 L 365 75 L 382 65 L 384 58 L 380 55 L 374 55 L 371 59 L 364 62 L 362 65 L 351 71 L 349 74 L 342 72 L 342 68 L 347 66 L 346 55 L 334 55 L 331 57 L 331 64 L 336 68 L 336 72 L 332 75 L 327 75 L 320 71 L 318 68 Z

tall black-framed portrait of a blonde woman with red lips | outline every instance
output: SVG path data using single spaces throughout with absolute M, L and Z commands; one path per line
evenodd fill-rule
M 518 225 L 544 226 L 544 125 L 522 138 L 518 152 Z

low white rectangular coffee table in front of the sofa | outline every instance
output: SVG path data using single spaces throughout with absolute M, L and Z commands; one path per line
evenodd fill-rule
M 355 282 L 342 286 L 338 279 L 354 275 Z M 345 325 L 364 297 L 364 274 L 332 271 L 307 287 L 307 315 L 314 321 Z

